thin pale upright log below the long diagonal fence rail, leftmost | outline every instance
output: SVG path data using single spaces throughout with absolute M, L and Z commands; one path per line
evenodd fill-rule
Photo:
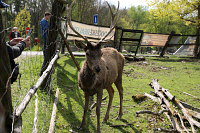
M 38 122 L 38 95 L 37 92 L 35 94 L 36 98 L 35 98 L 35 117 L 34 117 L 34 125 L 33 125 L 33 131 L 32 133 L 37 133 L 37 122 Z

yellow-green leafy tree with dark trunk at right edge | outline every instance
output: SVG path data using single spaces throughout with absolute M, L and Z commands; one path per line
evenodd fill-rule
M 182 20 L 186 25 L 195 26 L 196 33 L 200 32 L 200 1 L 199 0 L 149 0 L 159 18 L 168 16 L 170 20 Z M 199 36 L 194 54 L 200 52 Z M 200 55 L 200 54 L 199 54 Z

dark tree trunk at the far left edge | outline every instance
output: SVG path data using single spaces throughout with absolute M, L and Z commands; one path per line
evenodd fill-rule
M 0 32 L 3 31 L 3 19 L 2 12 L 0 11 Z M 11 75 L 11 67 L 9 62 L 9 56 L 7 47 L 5 45 L 4 33 L 0 33 L 0 100 L 2 99 L 2 104 L 6 111 L 6 129 L 7 132 L 11 132 L 12 130 L 12 120 L 10 119 L 10 115 L 12 115 L 12 97 L 11 97 L 11 88 L 10 83 L 7 86 L 8 78 Z M 7 86 L 7 91 L 6 91 Z

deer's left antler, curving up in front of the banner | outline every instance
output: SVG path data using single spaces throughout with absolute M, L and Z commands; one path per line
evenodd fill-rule
M 88 39 L 86 37 L 84 37 L 83 35 L 81 35 L 78 31 L 76 31 L 75 28 L 72 25 L 72 7 L 75 4 L 75 2 L 76 2 L 76 0 L 74 0 L 72 2 L 72 4 L 70 5 L 70 7 L 68 7 L 69 14 L 68 14 L 68 17 L 67 17 L 67 22 L 69 24 L 69 27 L 72 29 L 72 31 L 74 33 L 76 33 L 79 37 L 83 38 L 86 41 L 86 43 L 88 43 L 89 42 Z

